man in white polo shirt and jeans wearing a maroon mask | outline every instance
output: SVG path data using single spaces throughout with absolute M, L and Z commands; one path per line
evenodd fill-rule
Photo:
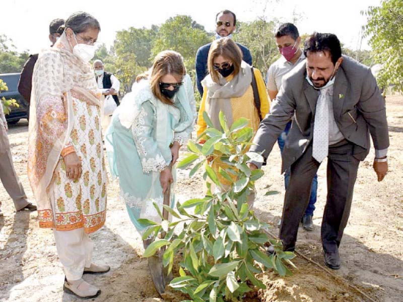
M 276 44 L 282 56 L 274 62 L 267 72 L 267 92 L 270 100 L 273 102 L 281 88 L 281 81 L 290 70 L 304 61 L 305 55 L 299 48 L 301 37 L 297 27 L 292 23 L 284 23 L 280 25 L 276 33 Z M 278 143 L 280 152 L 283 154 L 288 131 L 290 131 L 291 121 L 288 122 L 285 130 L 280 134 Z M 290 170 L 284 174 L 284 185 L 287 189 L 290 180 Z M 309 198 L 308 207 L 302 217 L 302 226 L 306 231 L 313 230 L 312 216 L 315 210 L 315 202 L 317 197 L 318 180 L 317 175 L 313 178 L 311 185 L 311 196 Z

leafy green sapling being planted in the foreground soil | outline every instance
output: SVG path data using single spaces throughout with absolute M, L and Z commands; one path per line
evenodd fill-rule
M 241 118 L 229 127 L 221 112 L 222 129 L 215 129 L 206 112 L 204 118 L 210 126 L 203 133 L 207 141 L 204 145 L 189 141 L 190 154 L 179 162 L 178 168 L 194 164 L 190 172 L 193 175 L 209 157 L 211 161 L 205 165 L 204 177 L 216 185 L 216 190 L 212 192 L 208 183 L 204 198 L 177 203 L 176 210 L 171 209 L 175 217 L 180 217 L 177 221 L 155 223 L 141 219 L 144 226 L 149 226 L 143 239 L 151 234 L 157 237 L 164 229 L 167 232 L 165 239 L 155 241 L 146 249 L 145 255 L 154 255 L 158 247 L 166 246 L 163 264 L 170 271 L 174 255 L 179 250 L 183 252 L 180 276 L 170 286 L 187 293 L 192 299 L 189 301 L 242 301 L 244 294 L 251 290 L 249 282 L 265 288 L 256 274 L 266 269 L 274 269 L 282 276 L 291 274 L 285 264 L 294 266 L 290 261 L 294 254 L 283 252 L 281 242 L 268 238 L 263 232 L 268 228 L 267 223 L 259 221 L 247 204 L 247 196 L 254 191 L 254 181 L 263 175 L 261 170 L 250 171 L 246 165 L 253 137 L 253 130 L 246 127 L 248 120 Z M 227 163 L 218 173 L 230 185 L 222 184 L 211 167 L 218 160 Z M 183 225 L 183 230 L 174 236 L 178 225 Z M 271 256 L 263 250 L 267 241 L 275 248 Z

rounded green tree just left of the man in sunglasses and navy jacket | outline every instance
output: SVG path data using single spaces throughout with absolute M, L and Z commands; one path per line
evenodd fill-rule
M 211 42 L 203 26 L 197 24 L 190 16 L 177 15 L 169 18 L 159 28 L 153 42 L 152 56 L 163 50 L 179 52 L 185 61 L 187 70 L 194 69 L 197 49 Z

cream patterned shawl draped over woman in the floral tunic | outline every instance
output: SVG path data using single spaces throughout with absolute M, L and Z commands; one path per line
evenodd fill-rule
M 41 210 L 50 209 L 48 189 L 73 128 L 72 97 L 100 106 L 101 92 L 92 66 L 71 49 L 63 33 L 52 48 L 41 51 L 32 77 L 28 178 L 38 215 Z

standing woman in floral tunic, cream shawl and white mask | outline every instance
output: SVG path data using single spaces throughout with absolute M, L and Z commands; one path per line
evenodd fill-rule
M 91 262 L 88 233 L 105 222 L 106 173 L 100 129 L 100 97 L 89 60 L 100 26 L 78 12 L 66 20 L 52 48 L 43 50 L 33 73 L 28 177 L 41 228 L 52 228 L 63 265 L 63 289 L 95 297 L 100 289 L 83 273 L 109 266 Z

